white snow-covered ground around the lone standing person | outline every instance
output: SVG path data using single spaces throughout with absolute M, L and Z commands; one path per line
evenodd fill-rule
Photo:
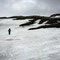
M 29 31 L 23 22 L 0 20 L 0 60 L 60 60 L 60 28 Z

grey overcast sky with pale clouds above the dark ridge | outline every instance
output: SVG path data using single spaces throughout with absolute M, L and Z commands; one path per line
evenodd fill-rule
M 0 0 L 0 16 L 60 13 L 60 0 Z

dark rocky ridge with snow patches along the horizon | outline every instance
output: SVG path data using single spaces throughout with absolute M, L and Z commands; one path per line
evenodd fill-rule
M 56 17 L 56 16 L 59 16 L 59 17 Z M 46 16 L 11 16 L 11 17 L 0 17 L 0 19 L 12 19 L 12 20 L 28 19 L 28 22 L 19 25 L 22 27 L 35 24 L 37 20 L 40 20 L 38 24 L 43 24 L 44 22 L 46 22 L 45 25 L 38 26 L 36 28 L 29 28 L 29 30 L 35 30 L 35 29 L 40 29 L 40 28 L 60 28 L 60 14 L 52 14 L 49 17 L 46 17 Z

